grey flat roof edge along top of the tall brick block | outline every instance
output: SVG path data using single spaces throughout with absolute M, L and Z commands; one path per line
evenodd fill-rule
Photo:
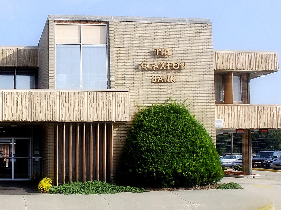
M 211 24 L 210 19 L 203 18 L 167 18 L 167 17 L 127 17 L 95 15 L 48 15 L 51 20 L 91 20 L 91 21 L 124 21 L 124 22 L 163 22 L 163 23 L 202 23 Z

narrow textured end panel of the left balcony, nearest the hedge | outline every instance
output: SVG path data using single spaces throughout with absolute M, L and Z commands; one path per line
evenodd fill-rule
M 117 122 L 130 121 L 130 94 L 129 92 L 115 92 Z

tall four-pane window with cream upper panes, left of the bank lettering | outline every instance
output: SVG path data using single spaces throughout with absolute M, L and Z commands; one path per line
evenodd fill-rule
M 107 89 L 106 25 L 56 24 L 56 88 Z

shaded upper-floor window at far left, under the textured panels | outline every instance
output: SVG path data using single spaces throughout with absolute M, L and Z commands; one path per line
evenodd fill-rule
M 0 69 L 0 89 L 34 89 L 35 72 Z

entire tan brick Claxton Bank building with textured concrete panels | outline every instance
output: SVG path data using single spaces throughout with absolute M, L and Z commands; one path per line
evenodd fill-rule
M 114 182 L 140 105 L 170 97 L 214 142 L 245 129 L 246 157 L 251 129 L 281 128 L 281 106 L 249 104 L 275 71 L 277 52 L 213 50 L 209 19 L 49 15 L 38 46 L 0 47 L 0 180 Z

